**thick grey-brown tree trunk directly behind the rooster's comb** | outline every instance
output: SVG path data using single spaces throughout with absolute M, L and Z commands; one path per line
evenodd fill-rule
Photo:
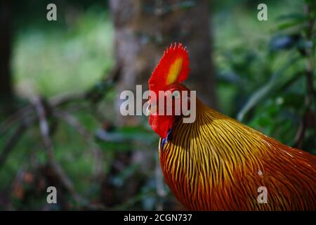
M 135 90 L 136 84 L 143 84 L 143 91 L 148 89 L 148 79 L 163 51 L 173 42 L 182 42 L 190 56 L 187 86 L 216 108 L 209 1 L 111 0 L 110 8 L 120 68 L 118 93 Z M 139 120 L 121 117 L 119 122 L 137 124 Z

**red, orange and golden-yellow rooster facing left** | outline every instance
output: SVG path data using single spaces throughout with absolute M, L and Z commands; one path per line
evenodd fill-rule
M 169 91 L 172 101 L 190 91 L 181 84 L 189 71 L 186 48 L 171 44 L 148 82 L 149 123 L 160 136 L 164 179 L 180 203 L 188 210 L 316 210 L 315 155 L 285 146 L 199 99 L 190 105 L 190 96 L 185 98 L 196 107 L 194 122 L 184 123 L 174 106 L 172 115 L 157 113 L 165 97 L 159 91 Z

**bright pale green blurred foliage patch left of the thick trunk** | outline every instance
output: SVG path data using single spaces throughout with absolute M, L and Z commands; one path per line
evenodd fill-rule
M 52 29 L 51 22 L 18 30 L 13 73 L 18 91 L 26 92 L 22 94 L 54 96 L 87 89 L 112 68 L 113 27 L 108 13 L 102 8 L 72 13 L 67 27 Z

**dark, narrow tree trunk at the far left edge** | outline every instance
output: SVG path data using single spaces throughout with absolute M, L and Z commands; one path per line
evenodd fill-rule
M 0 1 L 0 104 L 11 103 L 11 2 Z M 3 107 L 1 107 L 3 108 Z

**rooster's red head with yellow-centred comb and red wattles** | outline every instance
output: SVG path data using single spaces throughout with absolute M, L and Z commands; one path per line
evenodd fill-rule
M 176 119 L 174 101 L 176 98 L 179 98 L 180 102 L 182 101 L 182 91 L 187 90 L 187 88 L 180 83 L 187 79 L 189 70 L 189 57 L 185 47 L 182 44 L 175 43 L 164 51 L 164 55 L 149 79 L 149 89 L 152 91 L 149 100 L 151 106 L 149 123 L 152 129 L 162 138 L 166 138 Z M 159 96 L 159 91 L 165 91 L 164 96 Z M 166 100 L 170 99 L 169 97 L 173 99 L 173 113 L 172 115 L 160 115 L 159 101 L 165 98 L 164 109 L 162 110 L 166 113 Z

